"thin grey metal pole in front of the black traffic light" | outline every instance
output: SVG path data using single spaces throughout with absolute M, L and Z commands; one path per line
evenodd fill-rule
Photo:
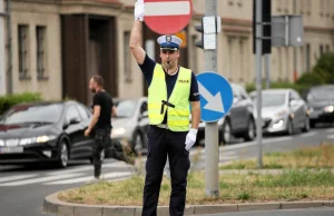
M 262 0 L 256 0 L 256 58 L 255 58 L 255 71 L 256 71 L 256 137 L 258 145 L 258 161 L 257 167 L 262 168 Z

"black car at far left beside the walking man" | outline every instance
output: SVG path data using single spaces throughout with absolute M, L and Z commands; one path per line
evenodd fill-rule
M 20 104 L 0 117 L 0 164 L 91 159 L 92 139 L 85 137 L 91 114 L 76 101 Z

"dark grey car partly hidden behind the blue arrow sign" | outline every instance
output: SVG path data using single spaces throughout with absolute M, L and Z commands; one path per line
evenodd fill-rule
M 244 87 L 232 84 L 234 101 L 229 112 L 218 120 L 219 143 L 229 144 L 238 137 L 249 141 L 256 137 L 253 102 Z M 199 124 L 198 139 L 205 137 L 205 122 Z

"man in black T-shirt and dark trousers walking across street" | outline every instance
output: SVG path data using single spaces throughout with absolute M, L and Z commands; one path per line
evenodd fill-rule
M 101 151 L 107 147 L 111 132 L 111 115 L 116 116 L 111 96 L 104 89 L 104 78 L 99 75 L 92 76 L 89 89 L 94 92 L 92 118 L 85 136 L 94 134 L 95 145 L 92 147 L 94 177 L 99 179 L 101 175 Z

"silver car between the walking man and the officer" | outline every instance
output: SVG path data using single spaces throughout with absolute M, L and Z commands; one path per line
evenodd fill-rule
M 149 126 L 147 98 L 114 99 L 117 116 L 112 117 L 111 140 L 138 154 L 147 148 L 147 130 Z

